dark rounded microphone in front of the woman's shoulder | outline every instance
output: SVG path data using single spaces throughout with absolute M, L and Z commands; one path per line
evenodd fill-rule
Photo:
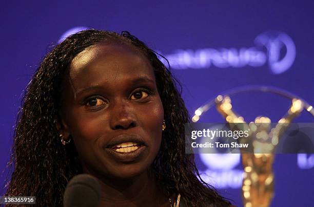
M 64 207 L 97 207 L 101 198 L 101 186 L 96 178 L 88 174 L 74 176 L 67 184 Z

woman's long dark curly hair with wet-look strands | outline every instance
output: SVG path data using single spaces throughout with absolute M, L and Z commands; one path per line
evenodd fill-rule
M 187 206 L 228 206 L 230 203 L 201 179 L 194 156 L 185 154 L 184 127 L 190 119 L 181 92 L 176 89 L 181 86 L 160 61 L 161 55 L 128 32 L 93 29 L 72 34 L 56 45 L 28 84 L 14 131 L 9 162 L 13 172 L 6 196 L 32 195 L 38 206 L 62 206 L 66 184 L 83 173 L 73 142 L 66 147 L 61 144 L 56 119 L 65 71 L 78 53 L 100 42 L 133 46 L 153 67 L 167 130 L 151 170 L 167 196 L 180 193 Z

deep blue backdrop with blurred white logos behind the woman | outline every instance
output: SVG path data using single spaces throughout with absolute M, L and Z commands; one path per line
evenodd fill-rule
M 0 186 L 23 90 L 49 46 L 70 30 L 128 30 L 165 55 L 193 115 L 220 92 L 244 85 L 276 86 L 313 104 L 313 17 L 312 1 L 2 1 Z M 265 115 L 277 122 L 289 104 L 258 93 L 234 98 L 235 110 L 248 121 Z M 223 119 L 211 109 L 201 121 Z M 304 111 L 295 121 L 313 117 Z M 197 163 L 210 175 L 204 179 L 242 205 L 239 155 L 197 156 Z M 314 206 L 314 155 L 277 155 L 274 172 L 272 206 Z

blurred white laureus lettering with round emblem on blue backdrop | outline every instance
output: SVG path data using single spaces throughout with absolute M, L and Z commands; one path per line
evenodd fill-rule
M 264 32 L 252 47 L 177 49 L 162 54 L 174 69 L 241 68 L 268 65 L 274 74 L 288 70 L 296 58 L 296 46 L 283 32 Z M 163 60 L 164 61 L 164 60 Z

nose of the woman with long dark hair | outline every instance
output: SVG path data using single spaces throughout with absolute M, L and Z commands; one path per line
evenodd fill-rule
M 136 125 L 136 118 L 132 107 L 128 103 L 116 103 L 111 114 L 111 129 L 129 129 Z

